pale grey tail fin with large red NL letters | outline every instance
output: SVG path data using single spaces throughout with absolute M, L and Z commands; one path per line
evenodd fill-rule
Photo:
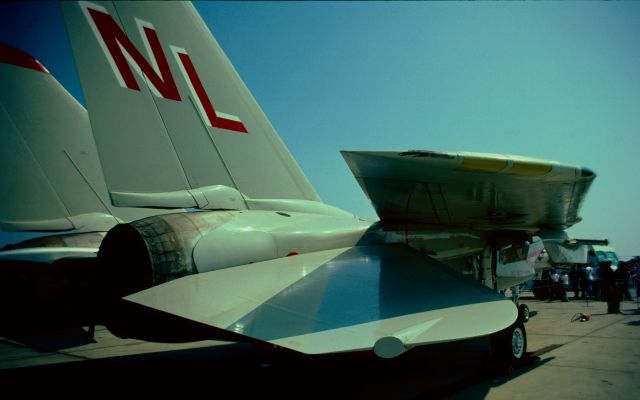
M 190 3 L 62 8 L 115 205 L 319 200 Z

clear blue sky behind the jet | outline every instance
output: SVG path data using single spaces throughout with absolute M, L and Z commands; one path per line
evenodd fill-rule
M 569 234 L 640 254 L 640 2 L 196 8 L 325 202 L 375 216 L 339 150 L 545 158 L 598 174 Z M 0 4 L 0 41 L 83 102 L 57 3 Z

